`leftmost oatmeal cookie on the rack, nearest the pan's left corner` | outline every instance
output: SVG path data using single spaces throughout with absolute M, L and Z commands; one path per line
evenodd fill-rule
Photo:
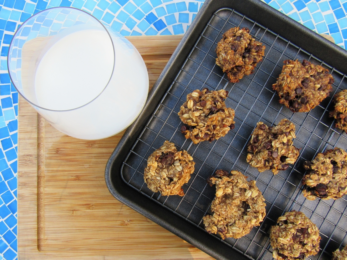
M 148 188 L 162 195 L 184 196 L 182 185 L 194 172 L 193 157 L 187 151 L 177 151 L 172 142 L 165 141 L 148 157 L 144 180 Z

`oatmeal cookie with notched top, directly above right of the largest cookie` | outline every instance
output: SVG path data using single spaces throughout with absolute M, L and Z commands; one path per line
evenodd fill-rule
M 276 127 L 258 122 L 247 145 L 247 163 L 259 172 L 287 170 L 299 156 L 299 149 L 293 146 L 295 137 L 295 125 L 288 119 L 282 119 Z

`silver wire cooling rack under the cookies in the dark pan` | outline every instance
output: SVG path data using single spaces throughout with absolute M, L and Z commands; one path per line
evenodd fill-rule
M 265 57 L 257 65 L 255 72 L 238 83 L 231 84 L 215 64 L 215 47 L 222 34 L 235 26 L 248 27 L 251 35 L 262 42 L 266 49 Z M 314 64 L 321 64 L 335 79 L 330 96 L 308 113 L 290 112 L 279 104 L 279 97 L 272 90 L 272 84 L 282 70 L 283 61 L 287 59 L 306 59 Z M 335 129 L 334 121 L 328 118 L 333 106 L 332 96 L 341 89 L 346 89 L 346 85 L 345 75 L 282 36 L 235 10 L 218 10 L 202 31 L 126 157 L 121 170 L 122 178 L 145 196 L 204 229 L 202 217 L 211 213 L 210 206 L 215 196 L 215 187 L 210 187 L 206 179 L 219 169 L 240 171 L 248 176 L 248 180 L 257 181 L 256 185 L 266 200 L 266 217 L 260 226 L 254 227 L 251 233 L 240 239 L 221 240 L 214 235 L 216 239 L 251 259 L 272 259 L 270 227 L 286 211 L 299 210 L 318 226 L 322 237 L 319 253 L 310 259 L 331 259 L 332 252 L 337 248 L 341 249 L 347 242 L 347 200 L 306 200 L 302 195 L 301 179 L 305 173 L 302 163 L 312 160 L 325 149 L 347 149 L 346 133 Z M 235 129 L 211 143 L 205 141 L 194 145 L 180 132 L 182 122 L 177 113 L 188 93 L 204 87 L 229 91 L 225 103 L 235 110 Z M 247 142 L 257 122 L 276 125 L 283 118 L 289 119 L 296 126 L 294 145 L 302 148 L 300 157 L 294 165 L 277 175 L 273 175 L 271 171 L 259 173 L 246 162 Z M 143 180 L 148 156 L 162 146 L 165 140 L 174 142 L 177 149 L 187 150 L 196 163 L 191 179 L 183 186 L 183 197 L 160 196 L 159 192 L 149 190 Z

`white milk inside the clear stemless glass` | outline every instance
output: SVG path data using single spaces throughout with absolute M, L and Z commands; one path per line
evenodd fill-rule
M 126 40 L 113 34 L 111 38 L 114 47 L 104 30 L 72 32 L 46 44 L 49 48 L 35 64 L 29 64 L 32 58 L 22 64 L 22 70 L 36 66 L 34 108 L 67 135 L 112 136 L 128 127 L 144 106 L 149 86 L 145 63 Z

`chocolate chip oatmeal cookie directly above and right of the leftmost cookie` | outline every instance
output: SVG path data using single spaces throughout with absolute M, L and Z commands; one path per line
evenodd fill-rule
M 178 112 L 185 124 L 181 132 L 187 139 L 192 139 L 194 144 L 205 140 L 212 142 L 235 128 L 235 111 L 224 103 L 227 96 L 226 90 L 210 91 L 208 88 L 196 89 L 187 95 L 187 101 Z

